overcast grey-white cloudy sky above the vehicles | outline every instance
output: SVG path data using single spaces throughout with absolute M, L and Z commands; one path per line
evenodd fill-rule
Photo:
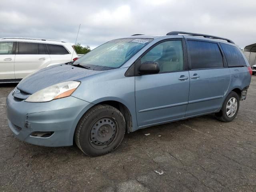
M 179 30 L 256 43 L 256 0 L 1 0 L 0 38 L 78 42 L 91 48 L 131 34 Z

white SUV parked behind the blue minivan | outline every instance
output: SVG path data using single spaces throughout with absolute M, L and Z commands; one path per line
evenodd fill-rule
M 78 58 L 66 42 L 34 38 L 0 39 L 0 83 L 19 82 L 42 68 Z

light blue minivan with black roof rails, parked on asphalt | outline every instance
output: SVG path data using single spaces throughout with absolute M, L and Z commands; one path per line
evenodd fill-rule
M 28 143 L 75 142 L 98 156 L 118 147 L 125 132 L 211 113 L 232 121 L 251 75 L 232 40 L 136 34 L 24 78 L 8 95 L 8 124 Z

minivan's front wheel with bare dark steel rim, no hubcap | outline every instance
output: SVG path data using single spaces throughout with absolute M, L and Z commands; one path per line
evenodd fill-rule
M 96 105 L 82 116 L 75 131 L 78 148 L 88 156 L 100 156 L 116 149 L 124 138 L 122 113 L 110 105 Z

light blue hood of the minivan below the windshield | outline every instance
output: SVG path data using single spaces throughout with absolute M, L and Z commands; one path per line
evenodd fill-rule
M 98 74 L 104 71 L 96 71 L 80 68 L 72 65 L 60 64 L 39 70 L 23 79 L 17 88 L 27 94 L 33 94 L 41 89 L 65 81 L 79 81 L 80 79 Z

